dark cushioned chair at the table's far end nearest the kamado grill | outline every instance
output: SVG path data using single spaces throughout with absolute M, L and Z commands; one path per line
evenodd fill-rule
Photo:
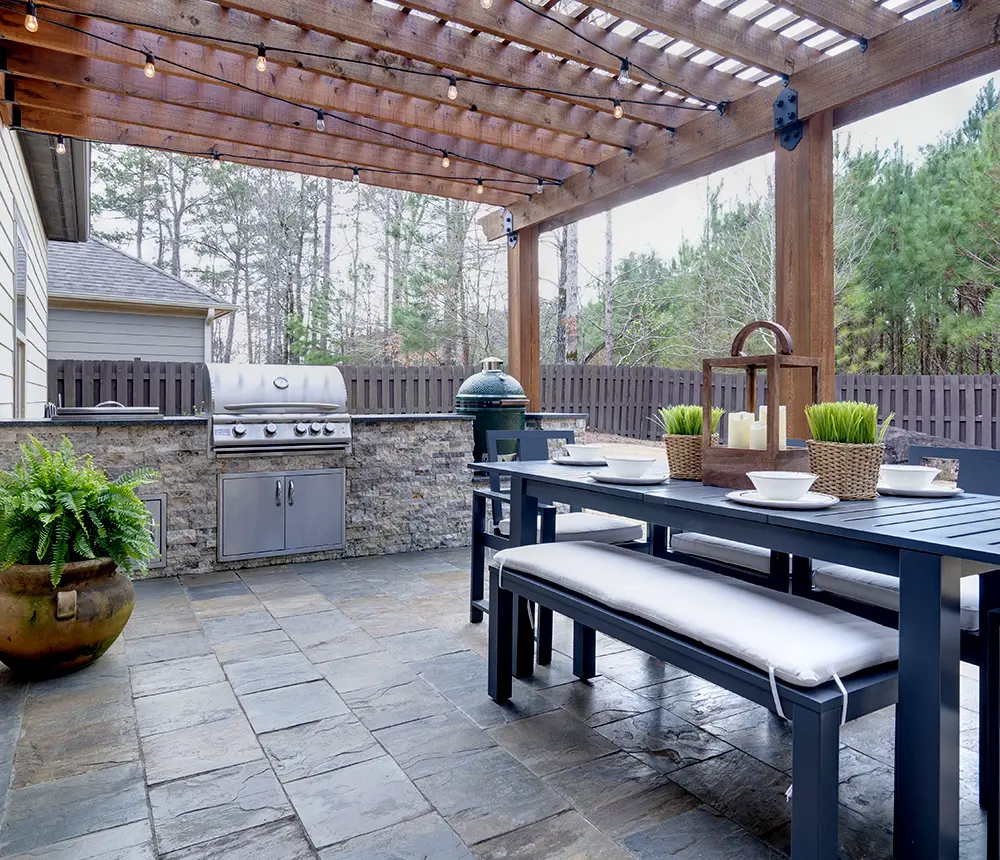
M 523 462 L 549 459 L 549 444 L 571 445 L 576 436 L 572 430 L 490 430 L 486 434 L 486 459 L 500 459 L 499 443 L 513 442 L 513 459 Z M 507 455 L 505 455 L 506 457 Z M 485 599 L 486 550 L 508 548 L 510 520 L 503 515 L 503 506 L 510 503 L 510 494 L 500 483 L 500 476 L 490 474 L 489 489 L 472 492 L 472 565 L 469 586 L 469 621 L 478 624 L 489 612 Z M 641 525 L 602 514 L 585 514 L 579 509 L 557 513 L 551 505 L 539 506 L 538 540 L 551 543 L 558 540 L 589 540 L 646 549 Z M 489 515 L 487 515 L 489 511 Z M 538 614 L 538 662 L 547 665 L 552 660 L 552 613 L 542 609 Z

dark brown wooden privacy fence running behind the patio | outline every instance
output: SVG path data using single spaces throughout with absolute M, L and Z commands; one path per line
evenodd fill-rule
M 207 392 L 201 364 L 156 361 L 49 362 L 49 399 L 64 406 L 117 400 L 158 406 L 166 415 L 203 411 Z M 356 414 L 452 412 L 459 386 L 478 368 L 342 366 L 347 400 Z M 716 374 L 712 402 L 742 409 L 743 374 Z M 758 402 L 764 396 L 762 384 Z M 895 412 L 904 430 L 996 448 L 1000 376 L 854 376 L 836 378 L 838 400 L 877 403 Z M 542 409 L 586 412 L 603 433 L 654 440 L 650 420 L 660 406 L 701 404 L 701 372 L 665 367 L 543 365 Z

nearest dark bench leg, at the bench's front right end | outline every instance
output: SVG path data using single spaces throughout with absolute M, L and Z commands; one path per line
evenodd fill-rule
M 792 714 L 792 860 L 836 860 L 840 709 Z

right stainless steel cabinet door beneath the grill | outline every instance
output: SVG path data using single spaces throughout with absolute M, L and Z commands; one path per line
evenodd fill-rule
M 344 546 L 344 470 L 288 472 L 285 488 L 285 551 Z

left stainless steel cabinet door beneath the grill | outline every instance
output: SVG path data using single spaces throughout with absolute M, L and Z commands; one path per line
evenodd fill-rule
M 219 558 L 252 558 L 285 548 L 283 474 L 223 475 L 220 481 Z

